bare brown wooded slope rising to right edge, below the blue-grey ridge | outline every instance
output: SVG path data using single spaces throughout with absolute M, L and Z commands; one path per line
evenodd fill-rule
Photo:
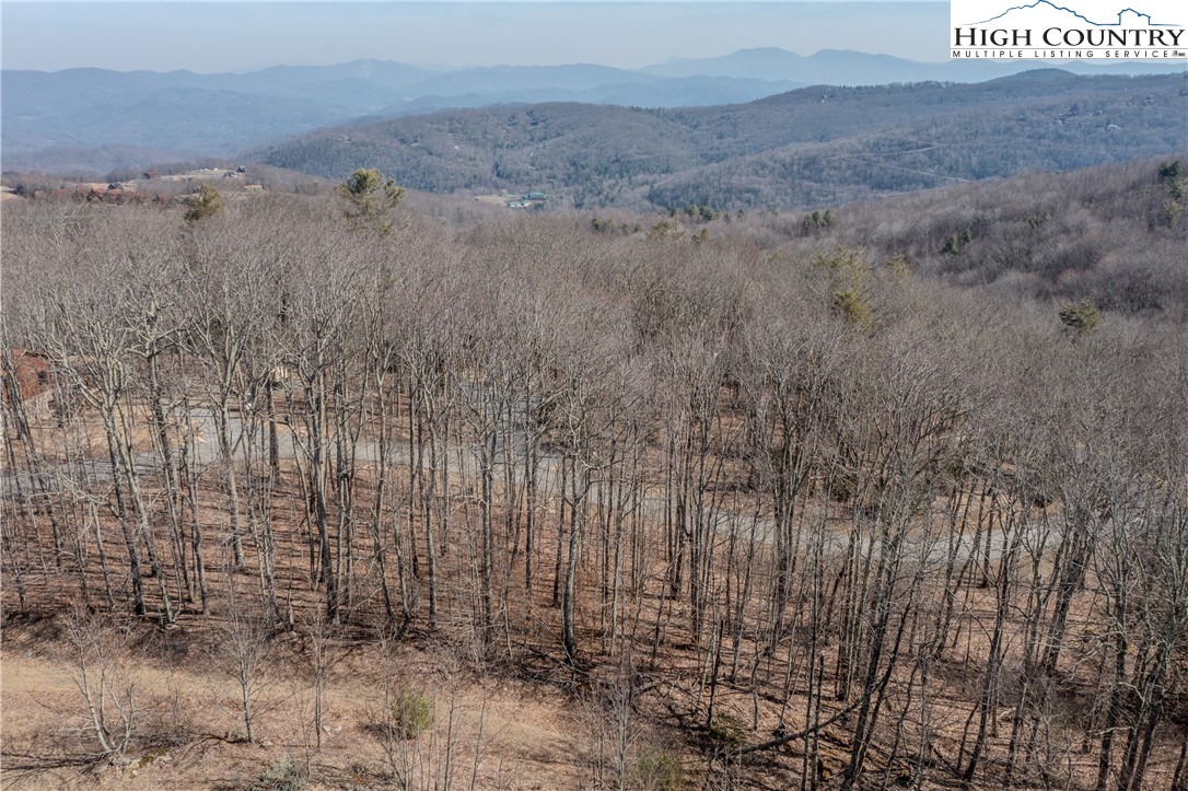
M 1088 298 L 1106 310 L 1184 321 L 1184 163 L 1188 150 L 961 184 L 828 214 L 759 213 L 742 224 L 759 243 L 789 254 L 860 246 L 874 261 L 898 258 L 920 273 L 1006 298 Z M 710 233 L 725 219 L 719 216 Z

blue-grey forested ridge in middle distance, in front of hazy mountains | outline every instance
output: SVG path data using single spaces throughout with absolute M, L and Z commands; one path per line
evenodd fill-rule
M 255 156 L 322 176 L 379 166 L 436 192 L 543 189 L 576 208 L 826 208 L 1178 151 L 1186 91 L 1182 75 L 1044 70 L 712 108 L 546 103 L 341 127 Z

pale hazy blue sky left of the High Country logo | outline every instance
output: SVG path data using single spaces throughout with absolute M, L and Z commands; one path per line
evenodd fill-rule
M 753 46 L 947 58 L 924 2 L 8 2 L 4 67 L 247 71 L 380 58 L 418 65 L 642 67 Z

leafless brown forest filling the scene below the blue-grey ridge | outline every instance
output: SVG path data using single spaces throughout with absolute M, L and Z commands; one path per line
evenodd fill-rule
M 5 203 L 6 641 L 76 684 L 14 783 L 213 740 L 230 787 L 1188 787 L 1180 160 L 402 197 Z M 560 774 L 402 646 L 565 701 Z M 236 694 L 133 705 L 166 666 Z

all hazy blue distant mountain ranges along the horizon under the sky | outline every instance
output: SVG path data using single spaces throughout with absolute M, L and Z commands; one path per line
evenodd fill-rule
M 105 172 L 169 158 L 238 156 L 328 125 L 446 108 L 536 102 L 718 106 L 807 84 L 973 82 L 1036 64 L 921 63 L 853 51 L 800 56 L 752 49 L 634 70 L 592 64 L 447 70 L 375 59 L 249 74 L 5 70 L 4 166 Z M 1183 71 L 1181 63 L 1069 68 L 1092 74 Z

